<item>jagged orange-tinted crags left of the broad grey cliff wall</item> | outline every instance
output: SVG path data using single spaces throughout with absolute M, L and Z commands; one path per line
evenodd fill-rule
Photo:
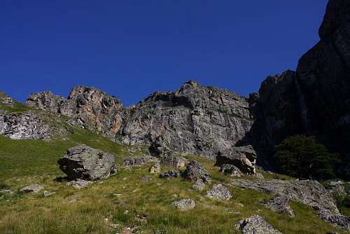
M 77 86 L 68 98 L 52 92 L 36 92 L 27 98 L 26 104 L 53 113 L 60 113 L 80 125 L 104 135 L 114 136 L 122 125 L 120 116 L 123 104 L 116 97 L 96 88 Z

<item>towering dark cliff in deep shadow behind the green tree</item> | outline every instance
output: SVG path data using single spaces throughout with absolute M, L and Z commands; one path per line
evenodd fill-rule
M 262 155 L 290 135 L 315 135 L 346 156 L 350 178 L 350 2 L 330 0 L 318 32 L 320 41 L 305 53 L 297 71 L 269 76 L 251 95 L 255 123 L 247 138 Z M 259 156 L 267 165 L 271 158 Z M 347 163 L 347 166 L 346 166 Z

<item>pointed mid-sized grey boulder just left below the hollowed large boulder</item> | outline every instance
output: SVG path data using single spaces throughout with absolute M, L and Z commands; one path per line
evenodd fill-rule
M 183 172 L 183 177 L 191 181 L 200 180 L 207 184 L 211 183 L 210 174 L 207 169 L 195 160 L 187 165 L 185 172 Z

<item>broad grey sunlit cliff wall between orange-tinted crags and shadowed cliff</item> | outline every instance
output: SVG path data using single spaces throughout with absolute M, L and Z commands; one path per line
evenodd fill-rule
M 170 149 L 214 158 L 235 146 L 251 124 L 245 97 L 189 81 L 125 109 L 118 138 L 125 144 L 155 142 L 151 153 L 157 156 Z

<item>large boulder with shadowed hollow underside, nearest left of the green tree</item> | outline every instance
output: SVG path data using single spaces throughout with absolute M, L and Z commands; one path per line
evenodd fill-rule
M 216 156 L 216 166 L 231 164 L 244 174 L 255 174 L 256 153 L 251 145 L 233 147 Z

